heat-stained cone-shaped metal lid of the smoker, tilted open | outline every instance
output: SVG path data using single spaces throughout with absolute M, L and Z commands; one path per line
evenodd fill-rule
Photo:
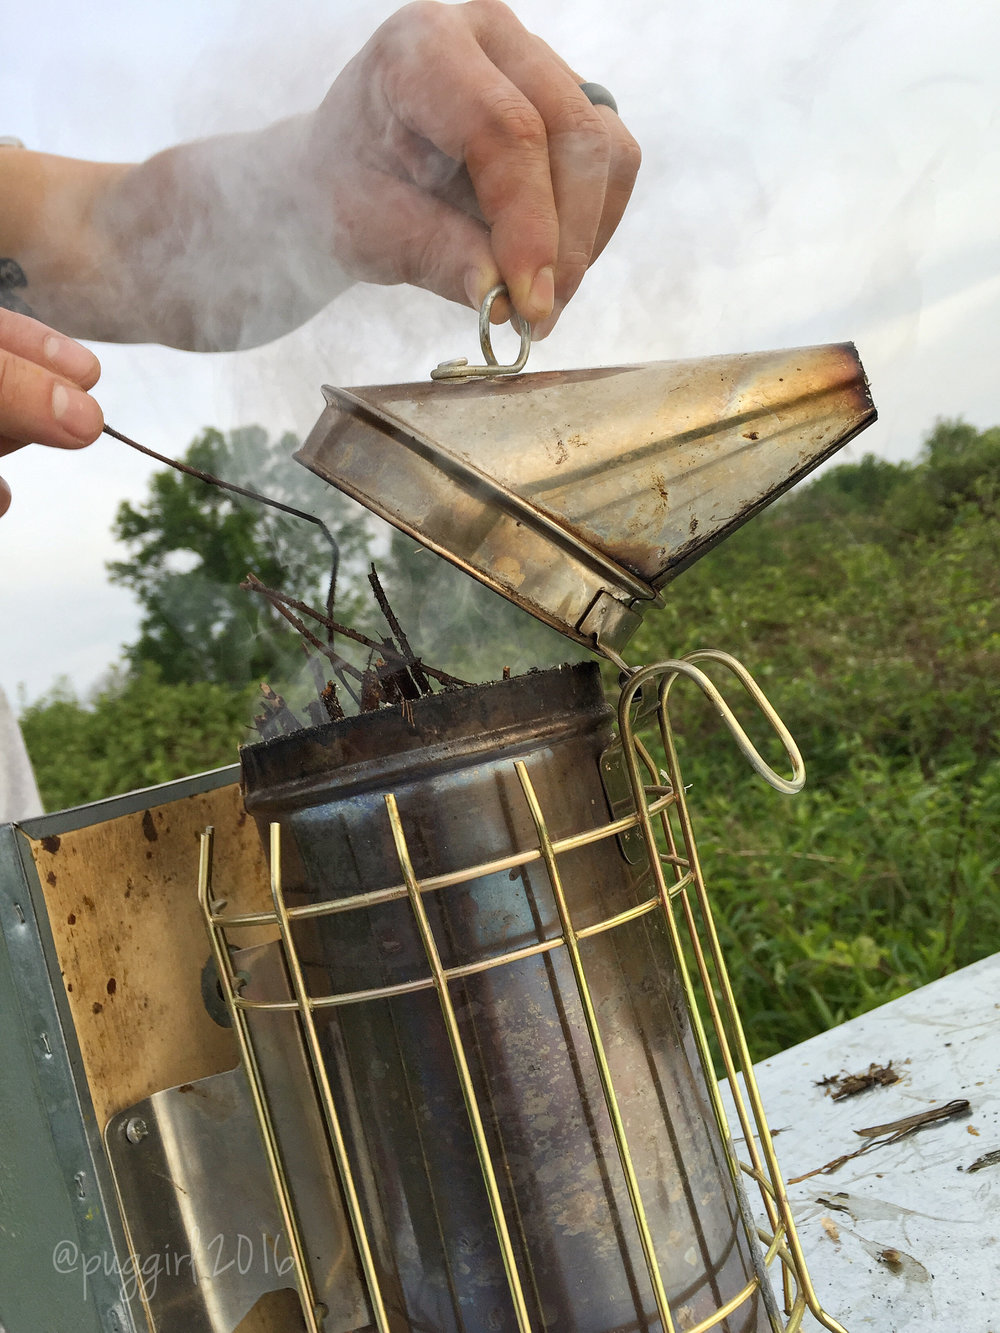
M 876 416 L 847 343 L 324 393 L 299 461 L 615 651 L 664 584 Z

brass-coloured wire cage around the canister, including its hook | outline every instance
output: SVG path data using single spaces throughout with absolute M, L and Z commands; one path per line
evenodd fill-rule
M 717 686 L 697 665 L 699 663 L 716 664 L 736 676 L 753 702 L 760 708 L 783 745 L 792 765 L 791 778 L 781 777 L 761 758 Z M 261 1132 L 275 1194 L 289 1241 L 292 1258 L 295 1260 L 296 1286 L 308 1333 L 324 1333 L 324 1318 L 328 1312 L 317 1297 L 316 1284 L 309 1272 L 307 1246 L 303 1241 L 300 1218 L 296 1216 L 293 1182 L 285 1170 L 275 1116 L 255 1050 L 251 1029 L 253 1010 L 291 1010 L 297 1018 L 315 1081 L 316 1098 L 343 1188 L 345 1212 L 349 1218 L 367 1296 L 371 1302 L 372 1322 L 379 1333 L 389 1333 L 387 1304 L 384 1293 L 380 1290 L 369 1228 L 364 1216 L 359 1185 L 352 1172 L 344 1128 L 335 1104 L 315 1016 L 317 1010 L 329 1006 L 361 1004 L 369 1000 L 416 990 L 436 990 L 483 1180 L 489 1197 L 491 1213 L 503 1256 L 516 1325 L 520 1333 L 531 1333 L 533 1325 L 529 1317 L 528 1300 L 517 1270 L 515 1248 L 508 1230 L 499 1185 L 499 1173 L 503 1170 L 503 1166 L 493 1161 L 491 1154 L 483 1124 L 483 1108 L 477 1101 L 471 1076 L 469 1057 L 460 1032 L 451 994 L 451 984 L 476 972 L 501 968 L 505 964 L 520 961 L 551 949 L 565 949 L 571 962 L 663 1333 L 679 1333 L 681 1329 L 684 1333 L 708 1333 L 709 1329 L 719 1328 L 728 1316 L 737 1310 L 755 1293 L 759 1293 L 764 1301 L 775 1333 L 796 1333 L 803 1325 L 807 1310 L 829 1333 L 845 1333 L 843 1325 L 821 1308 L 809 1278 L 767 1116 L 755 1080 L 752 1060 L 736 1008 L 732 985 L 723 958 L 712 906 L 699 862 L 668 713 L 671 689 L 680 678 L 692 681 L 703 690 L 717 709 L 737 746 L 760 777 L 787 794 L 793 794 L 801 789 L 805 773 L 799 749 L 749 672 L 727 653 L 703 651 L 691 653 L 684 659 L 668 660 L 640 668 L 631 672 L 625 678 L 617 708 L 619 734 L 613 750 L 605 753 L 604 768 L 607 770 L 619 768 L 620 773 L 624 772 L 624 777 L 627 778 L 628 812 L 620 817 L 611 818 L 607 824 L 596 829 L 553 838 L 528 769 L 521 760 L 516 760 L 517 780 L 537 834 L 537 845 L 535 848 L 501 860 L 492 860 L 457 872 L 419 880 L 413 872 L 407 845 L 407 833 L 400 820 L 396 797 L 392 793 L 387 793 L 384 797 L 385 816 L 391 828 L 400 870 L 397 884 L 391 888 L 355 894 L 337 901 L 289 905 L 285 901 L 281 884 L 281 829 L 275 822 L 271 824 L 269 849 L 273 912 L 241 914 L 227 912 L 227 905 L 216 901 L 213 897 L 212 829 L 204 832 L 201 837 L 199 900 L 212 942 L 221 992 L 232 1017 L 244 1069 L 249 1080 L 252 1102 Z M 640 732 L 647 738 L 643 738 Z M 624 801 L 615 800 L 612 804 L 616 813 L 625 808 Z M 619 838 L 621 849 L 629 860 L 635 861 L 641 856 L 648 861 L 653 892 L 644 901 L 625 912 L 577 929 L 573 924 L 563 886 L 560 858 L 568 852 L 605 838 Z M 485 961 L 445 968 L 424 905 L 424 896 L 443 893 L 449 888 L 481 876 L 512 870 L 529 861 L 540 861 L 547 870 L 559 912 L 561 928 L 559 936 L 548 938 L 544 942 L 507 952 L 500 957 L 492 956 Z M 409 901 L 427 956 L 427 974 L 417 981 L 395 986 L 337 994 L 309 994 L 303 960 L 292 934 L 293 922 L 304 917 L 364 909 L 375 902 L 387 902 L 393 898 Z M 615 930 L 627 921 L 657 912 L 663 914 L 665 921 L 673 952 L 673 962 L 683 982 L 688 1016 L 704 1069 L 712 1110 L 725 1145 L 727 1165 L 733 1186 L 737 1196 L 743 1198 L 745 1197 L 743 1193 L 743 1181 L 752 1180 L 760 1193 L 767 1226 L 757 1228 L 757 1238 L 764 1246 L 764 1270 L 771 1269 L 776 1260 L 779 1262 L 781 1270 L 783 1312 L 779 1312 L 777 1302 L 773 1300 L 771 1292 L 764 1290 L 767 1278 L 763 1277 L 763 1270 L 751 1277 L 740 1292 L 720 1305 L 708 1318 L 703 1318 L 697 1324 L 691 1324 L 689 1320 L 679 1321 L 679 1313 L 671 1309 L 664 1289 L 660 1264 L 655 1253 L 653 1238 L 629 1150 L 628 1134 L 612 1082 L 599 1017 L 580 949 L 581 941 L 588 936 Z M 237 972 L 233 962 L 231 950 L 235 950 L 236 946 L 229 937 L 229 932 L 263 925 L 276 928 L 280 936 L 280 949 L 292 996 L 289 1000 L 261 1001 L 249 1000 L 241 994 L 245 977 Z M 737 1133 L 745 1146 L 745 1156 L 748 1158 L 745 1161 L 737 1157 L 732 1144 L 736 1126 L 731 1126 L 724 1109 L 723 1092 L 715 1073 L 708 1036 L 709 1030 L 715 1036 L 716 1048 L 728 1080 L 739 1124 Z M 749 1234 L 753 1222 L 745 1208 L 741 1209 L 741 1221 Z

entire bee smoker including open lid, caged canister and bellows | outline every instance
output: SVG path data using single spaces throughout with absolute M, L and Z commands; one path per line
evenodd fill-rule
M 780 790 L 801 760 L 724 653 L 623 653 L 676 573 L 873 419 L 853 349 L 327 399 L 303 461 L 615 661 L 617 716 L 595 664 L 531 672 L 248 746 L 241 789 L 0 829 L 0 1325 L 843 1333 L 756 1092 L 672 690 Z

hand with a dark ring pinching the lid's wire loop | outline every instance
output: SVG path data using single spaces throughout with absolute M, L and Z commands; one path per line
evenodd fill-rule
M 309 119 L 303 175 L 337 263 L 475 307 L 503 281 L 547 333 L 639 169 L 639 145 L 581 81 L 499 0 L 401 9 Z

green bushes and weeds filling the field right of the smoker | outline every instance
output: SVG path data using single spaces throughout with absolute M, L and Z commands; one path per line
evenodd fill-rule
M 675 690 L 756 1056 L 1000 948 L 999 481 L 1000 431 L 963 423 L 917 464 L 833 468 L 669 585 L 629 645 L 732 652 L 805 758 L 805 790 L 777 796 Z

